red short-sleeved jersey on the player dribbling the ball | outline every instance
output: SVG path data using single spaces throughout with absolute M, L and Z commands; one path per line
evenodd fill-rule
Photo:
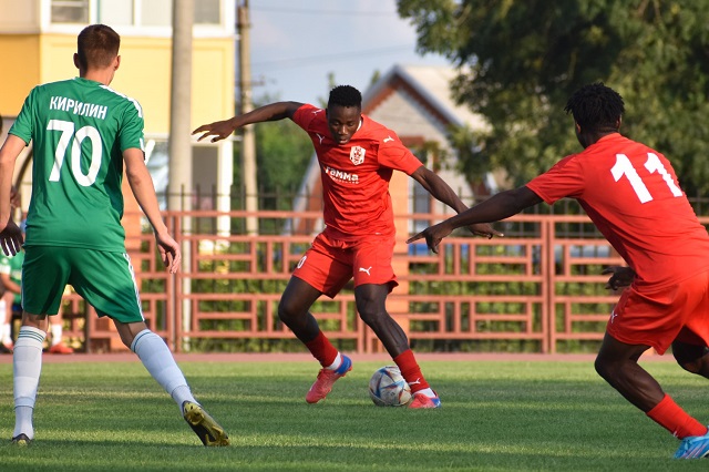
M 421 161 L 393 131 L 364 115 L 345 145 L 332 140 L 322 109 L 302 105 L 292 121 L 308 133 L 318 156 L 326 230 L 335 230 L 343 239 L 394 234 L 391 174 L 401 171 L 411 175 L 421 167 Z

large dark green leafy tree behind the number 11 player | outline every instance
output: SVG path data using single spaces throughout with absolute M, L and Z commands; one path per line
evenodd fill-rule
M 399 0 L 398 8 L 417 28 L 420 52 L 459 68 L 456 100 L 490 123 L 465 167 L 490 163 L 520 185 L 578 152 L 563 109 L 580 85 L 602 81 L 625 100 L 621 132 L 670 158 L 688 195 L 709 189 L 706 2 Z

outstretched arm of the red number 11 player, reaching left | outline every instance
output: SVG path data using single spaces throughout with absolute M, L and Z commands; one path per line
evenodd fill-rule
M 479 223 L 492 223 L 516 215 L 524 208 L 536 205 L 542 198 L 526 186 L 513 191 L 501 192 L 485 202 L 473 206 L 438 225 L 430 226 L 421 233 L 410 237 L 407 243 L 424 239 L 433 253 L 438 254 L 439 244 L 453 229 Z

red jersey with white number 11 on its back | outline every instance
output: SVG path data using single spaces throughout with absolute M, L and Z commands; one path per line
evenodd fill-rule
M 576 198 L 637 274 L 638 286 L 677 284 L 709 269 L 709 236 L 669 161 L 618 133 L 564 157 L 527 187 L 553 204 Z

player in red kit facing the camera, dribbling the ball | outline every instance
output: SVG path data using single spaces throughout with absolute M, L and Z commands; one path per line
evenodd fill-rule
M 361 113 L 362 96 L 349 85 L 330 92 L 327 110 L 297 102 L 278 102 L 244 115 L 196 129 L 212 141 L 227 137 L 251 123 L 292 120 L 312 140 L 322 178 L 325 230 L 298 263 L 278 306 L 279 318 L 300 339 L 322 369 L 306 396 L 323 400 L 336 380 L 351 368 L 320 330 L 309 312 L 322 295 L 335 297 L 354 279 L 354 299 L 361 319 L 374 331 L 411 387 L 410 408 L 438 408 L 441 401 L 421 373 L 404 331 L 387 312 L 389 293 L 398 285 L 391 260 L 394 223 L 389 195 L 393 171 L 419 182 L 433 197 L 456 212 L 466 206 L 451 187 L 428 170 L 397 134 Z M 490 225 L 473 225 L 474 234 L 501 235 Z

